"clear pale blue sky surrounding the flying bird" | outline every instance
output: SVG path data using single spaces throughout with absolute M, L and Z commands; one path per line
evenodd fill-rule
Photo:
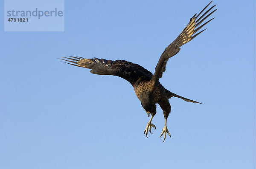
M 133 87 L 61 56 L 124 59 L 154 72 L 208 0 L 65 0 L 64 32 L 4 32 L 0 17 L 1 169 L 255 169 L 255 1 L 215 0 L 203 34 L 169 59 L 160 82 L 178 98 L 168 129 L 148 123 Z M 0 4 L 3 9 L 3 2 Z

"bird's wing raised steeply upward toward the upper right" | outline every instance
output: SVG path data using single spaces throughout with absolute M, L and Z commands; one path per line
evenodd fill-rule
M 188 25 L 183 29 L 183 31 L 180 33 L 180 35 L 164 50 L 163 54 L 160 56 L 160 59 L 157 63 L 157 66 L 155 68 L 155 73 L 151 78 L 151 82 L 153 84 L 156 84 L 156 82 L 163 76 L 163 72 L 166 70 L 166 63 L 168 59 L 175 54 L 177 54 L 180 51 L 180 47 L 187 42 L 191 41 L 195 37 L 197 37 L 199 34 L 201 34 L 204 30 L 198 32 L 204 25 L 209 23 L 214 18 L 208 20 L 207 22 L 203 23 L 204 20 L 206 20 L 213 12 L 215 12 L 217 9 L 212 10 L 216 5 L 209 8 L 204 14 L 204 10 L 212 3 L 212 1 L 197 15 L 195 14 L 189 21 Z M 210 12 L 211 11 L 211 12 Z M 209 13 L 210 12 L 210 13 Z M 208 14 L 209 13 L 209 14 Z M 201 15 L 202 14 L 202 15 Z

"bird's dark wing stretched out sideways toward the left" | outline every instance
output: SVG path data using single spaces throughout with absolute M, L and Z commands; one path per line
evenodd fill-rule
M 127 62 L 125 60 L 106 60 L 106 59 L 84 59 L 82 57 L 63 57 L 70 65 L 91 69 L 90 72 L 99 75 L 119 76 L 134 85 L 141 77 L 145 80 L 150 80 L 152 73 L 138 64 Z

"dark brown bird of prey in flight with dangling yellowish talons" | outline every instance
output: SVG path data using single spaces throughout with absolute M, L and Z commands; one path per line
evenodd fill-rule
M 176 55 L 180 51 L 180 47 L 182 45 L 191 41 L 204 30 L 206 30 L 204 29 L 201 31 L 201 28 L 203 28 L 204 25 L 214 19 L 212 18 L 207 22 L 204 22 L 213 12 L 217 10 L 213 10 L 213 8 L 216 6 L 214 5 L 205 11 L 211 3 L 212 1 L 198 15 L 195 14 L 190 19 L 188 25 L 186 25 L 183 31 L 179 34 L 179 36 L 169 46 L 167 46 L 163 54 L 160 56 L 154 74 L 138 64 L 125 60 L 112 61 L 106 59 L 98 59 L 96 57 L 93 59 L 85 59 L 79 56 L 63 57 L 64 59 L 61 60 L 66 61 L 65 63 L 70 65 L 91 69 L 90 72 L 93 74 L 119 76 L 130 82 L 134 87 L 135 94 L 140 100 L 140 103 L 146 111 L 148 117 L 151 114 L 151 118 L 144 130 L 146 137 L 148 137 L 148 131 L 151 132 L 152 127 L 156 129 L 155 125 L 152 124 L 151 121 L 154 115 L 157 113 L 156 104 L 159 104 L 163 110 L 163 115 L 165 118 L 165 124 L 160 137 L 164 135 L 163 141 L 165 141 L 166 133 L 171 137 L 166 125 L 168 115 L 171 112 L 169 99 L 171 97 L 177 97 L 193 103 L 199 102 L 186 99 L 182 96 L 170 92 L 160 84 L 159 79 L 163 76 L 163 72 L 166 70 L 166 63 L 168 59 Z

